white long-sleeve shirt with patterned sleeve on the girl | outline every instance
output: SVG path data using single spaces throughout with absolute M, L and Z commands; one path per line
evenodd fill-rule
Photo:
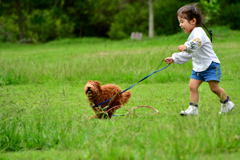
M 195 27 L 184 45 L 187 46 L 187 51 L 172 55 L 175 64 L 184 64 L 192 59 L 193 70 L 203 72 L 212 62 L 220 63 L 212 48 L 212 43 L 202 27 Z

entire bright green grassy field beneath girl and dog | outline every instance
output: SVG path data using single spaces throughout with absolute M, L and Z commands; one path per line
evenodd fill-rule
M 189 103 L 191 62 L 170 65 L 131 89 L 124 114 L 89 120 L 88 80 L 126 89 L 177 52 L 188 35 L 142 41 L 64 39 L 38 45 L 0 43 L 0 159 L 239 159 L 240 32 L 216 27 L 213 47 L 223 87 L 236 104 L 218 115 L 220 102 L 208 84 L 199 89 L 199 115 L 181 117 Z M 166 64 L 163 63 L 162 67 Z

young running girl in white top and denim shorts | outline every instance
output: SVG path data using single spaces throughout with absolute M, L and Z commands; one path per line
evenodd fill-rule
M 234 108 L 225 90 L 219 86 L 221 77 L 220 61 L 214 53 L 212 43 L 205 31 L 200 27 L 203 18 L 195 5 L 186 5 L 177 12 L 179 26 L 185 33 L 190 33 L 187 42 L 178 46 L 180 53 L 174 53 L 164 61 L 168 64 L 184 64 L 192 59 L 192 75 L 190 78 L 190 106 L 187 110 L 181 111 L 180 115 L 198 115 L 199 93 L 198 87 L 203 81 L 208 82 L 213 93 L 219 98 L 221 113 L 226 113 Z

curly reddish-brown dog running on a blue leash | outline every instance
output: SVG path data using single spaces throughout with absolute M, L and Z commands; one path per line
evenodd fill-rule
M 128 102 L 132 93 L 127 91 L 123 94 L 118 95 L 122 92 L 122 90 L 116 86 L 115 84 L 106 84 L 100 86 L 100 82 L 98 81 L 88 81 L 85 86 L 85 94 L 88 97 L 89 105 L 98 105 L 114 96 L 112 100 L 102 104 L 99 106 L 100 108 L 92 107 L 95 112 L 95 115 L 90 117 L 92 118 L 111 118 L 114 112 Z M 117 96 L 118 95 L 118 96 Z M 107 107 L 106 107 L 107 106 Z M 106 107 L 106 108 L 105 108 Z M 109 112 L 102 113 L 100 110 L 110 110 Z

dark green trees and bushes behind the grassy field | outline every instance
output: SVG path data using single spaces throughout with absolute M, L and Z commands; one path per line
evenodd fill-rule
M 148 34 L 147 0 L 3 0 L 0 40 L 46 42 L 72 37 L 122 39 L 131 32 Z M 156 35 L 177 33 L 177 9 L 193 0 L 153 1 Z M 208 25 L 240 29 L 238 0 L 201 0 Z

